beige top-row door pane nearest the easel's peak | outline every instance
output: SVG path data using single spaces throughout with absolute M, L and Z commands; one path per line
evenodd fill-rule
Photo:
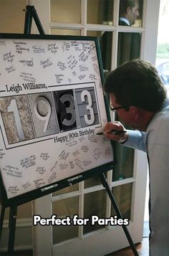
M 51 22 L 80 23 L 79 0 L 51 0 Z

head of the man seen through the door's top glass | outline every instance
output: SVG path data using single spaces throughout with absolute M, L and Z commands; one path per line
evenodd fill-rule
M 133 25 L 138 16 L 139 4 L 137 0 L 120 0 L 120 17 L 124 17 L 130 22 L 130 25 Z

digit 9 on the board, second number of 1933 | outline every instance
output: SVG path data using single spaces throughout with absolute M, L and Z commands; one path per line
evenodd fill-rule
M 46 113 L 47 112 L 47 113 Z M 47 125 L 51 115 L 51 105 L 47 98 L 42 96 L 38 97 L 34 102 L 34 113 L 40 120 L 45 121 L 44 133 L 47 131 Z

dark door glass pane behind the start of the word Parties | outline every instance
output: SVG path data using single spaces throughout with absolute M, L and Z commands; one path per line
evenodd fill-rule
M 106 191 L 96 191 L 89 194 L 84 194 L 84 218 L 91 219 L 91 216 L 97 215 L 99 218 L 105 218 L 106 214 Z M 105 226 L 100 226 L 95 222 L 94 225 L 91 221 L 84 226 L 84 234 L 88 232 L 101 229 Z

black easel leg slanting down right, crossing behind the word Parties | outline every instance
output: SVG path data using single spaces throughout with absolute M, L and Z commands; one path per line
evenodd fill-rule
M 118 207 L 117 207 L 117 204 L 116 204 L 116 202 L 115 202 L 115 197 L 114 197 L 113 194 L 112 194 L 112 190 L 110 189 L 109 184 L 107 184 L 107 179 L 105 178 L 105 174 L 102 174 L 102 175 L 100 176 L 100 180 L 102 181 L 102 186 L 105 187 L 105 189 L 106 189 L 106 191 L 107 191 L 107 194 L 108 194 L 109 197 L 110 197 L 110 200 L 111 200 L 111 202 L 112 202 L 112 206 L 113 206 L 114 209 L 115 209 L 115 212 L 116 212 L 116 214 L 117 214 L 117 217 L 120 218 L 120 219 L 122 219 L 122 214 L 120 213 L 120 210 L 119 210 Z M 138 252 L 137 252 L 137 250 L 136 250 L 136 248 L 135 248 L 135 244 L 134 244 L 134 242 L 132 241 L 132 237 L 130 236 L 130 233 L 129 233 L 127 227 L 126 227 L 125 225 L 122 225 L 122 228 L 123 228 L 123 230 L 124 230 L 124 232 L 125 232 L 125 235 L 126 235 L 127 240 L 128 240 L 128 242 L 129 242 L 129 244 L 130 244 L 130 247 L 131 247 L 131 249 L 132 249 L 133 254 L 134 254 L 135 256 L 138 256 Z

